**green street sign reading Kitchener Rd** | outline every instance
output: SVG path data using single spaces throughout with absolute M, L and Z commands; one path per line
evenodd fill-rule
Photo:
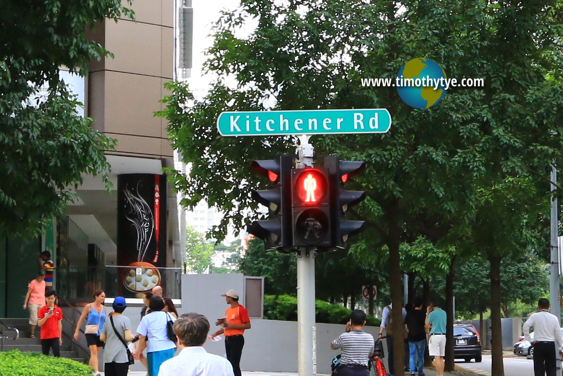
M 222 136 L 284 136 L 344 133 L 385 133 L 391 114 L 385 108 L 222 112 Z

